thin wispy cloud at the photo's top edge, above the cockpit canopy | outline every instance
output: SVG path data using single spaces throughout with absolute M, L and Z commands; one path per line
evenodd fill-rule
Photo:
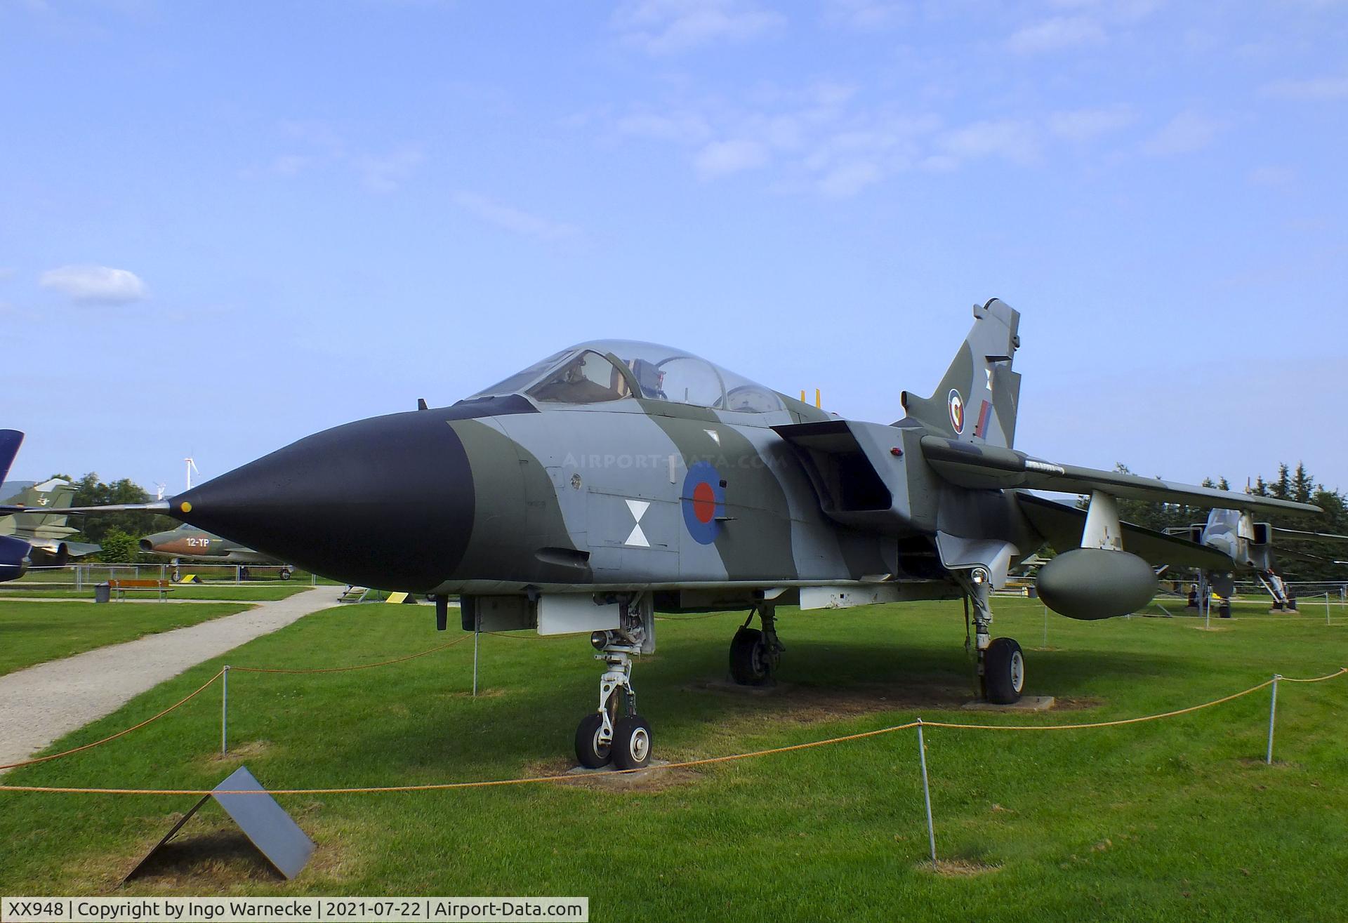
M 776 31 L 785 18 L 748 0 L 638 0 L 613 13 L 623 40 L 650 54 L 710 42 L 745 42 Z

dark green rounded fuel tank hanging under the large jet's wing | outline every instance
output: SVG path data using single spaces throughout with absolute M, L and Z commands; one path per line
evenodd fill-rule
M 1092 621 L 1126 616 L 1157 594 L 1151 565 L 1127 551 L 1074 548 L 1039 569 L 1039 598 L 1058 614 Z

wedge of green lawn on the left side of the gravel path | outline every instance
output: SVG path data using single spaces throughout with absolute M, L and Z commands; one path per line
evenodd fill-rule
M 12 602 L 0 600 L 0 675 L 96 647 L 243 612 L 247 605 Z

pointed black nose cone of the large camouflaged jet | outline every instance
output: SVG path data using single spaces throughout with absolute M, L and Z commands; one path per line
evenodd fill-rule
M 359 586 L 426 592 L 464 555 L 473 478 L 439 414 L 315 433 L 173 499 L 170 515 Z

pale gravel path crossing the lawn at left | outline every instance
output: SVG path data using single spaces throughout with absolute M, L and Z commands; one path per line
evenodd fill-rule
M 337 605 L 340 593 L 341 587 L 322 586 L 0 676 L 0 765 L 27 759 L 202 660 Z

